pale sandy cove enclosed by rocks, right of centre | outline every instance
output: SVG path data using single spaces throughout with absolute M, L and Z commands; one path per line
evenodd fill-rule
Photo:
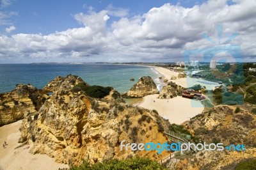
M 150 110 L 155 109 L 160 116 L 169 120 L 170 123 L 181 124 L 204 111 L 204 105 L 200 101 L 182 97 L 170 99 L 159 99 L 157 97 L 158 95 L 143 97 L 143 102 L 138 106 Z

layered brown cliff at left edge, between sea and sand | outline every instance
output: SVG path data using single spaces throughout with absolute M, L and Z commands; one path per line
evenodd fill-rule
M 17 84 L 9 93 L 0 94 L 0 126 L 35 114 L 44 104 L 47 95 L 30 84 Z

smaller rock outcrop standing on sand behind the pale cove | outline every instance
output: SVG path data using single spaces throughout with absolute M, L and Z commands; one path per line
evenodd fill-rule
M 182 88 L 175 84 L 175 82 L 168 82 L 166 86 L 163 86 L 161 93 L 159 94 L 158 98 L 173 98 L 177 97 L 177 95 L 182 95 Z

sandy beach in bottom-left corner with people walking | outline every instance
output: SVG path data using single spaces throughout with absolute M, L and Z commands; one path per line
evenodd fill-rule
M 19 128 L 22 120 L 9 125 L 0 127 L 1 147 L 0 147 L 0 170 L 7 169 L 58 169 L 68 167 L 66 164 L 58 164 L 54 162 L 54 158 L 50 158 L 47 155 L 31 154 L 29 149 L 31 145 L 25 145 L 20 148 L 16 148 L 20 144 L 18 139 L 20 137 Z M 3 143 L 6 141 L 8 144 L 6 148 L 3 148 Z M 28 148 L 29 147 L 29 148 Z

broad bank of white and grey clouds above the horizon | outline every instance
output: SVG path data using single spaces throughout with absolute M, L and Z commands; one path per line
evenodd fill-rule
M 255 8 L 256 3 L 247 0 L 230 6 L 211 0 L 193 8 L 164 4 L 143 15 L 122 14 L 110 27 L 106 22 L 114 15 L 109 9 L 77 13 L 74 19 L 82 27 L 50 35 L 0 36 L 0 59 L 177 61 L 184 50 L 212 47 L 214 44 L 202 38 L 202 33 L 218 42 L 216 25 L 222 24 L 221 42 L 237 31 L 239 36 L 230 43 L 241 45 L 244 59 L 256 61 Z

